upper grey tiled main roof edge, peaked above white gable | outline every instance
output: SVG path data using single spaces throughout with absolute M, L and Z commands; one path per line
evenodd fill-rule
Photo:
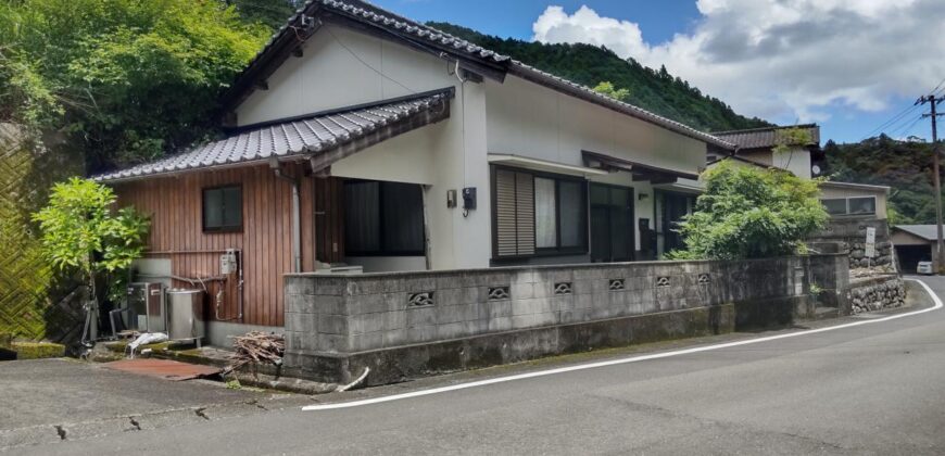
M 559 76 L 555 76 L 551 73 L 543 72 L 533 66 L 526 65 L 519 61 L 512 60 L 507 55 L 503 55 L 491 51 L 489 49 L 482 48 L 478 45 L 469 42 L 465 39 L 454 37 L 444 31 L 438 30 L 433 27 L 419 24 L 415 21 L 408 20 L 406 17 L 396 15 L 391 13 L 390 11 L 378 8 L 374 4 L 370 4 L 366 1 L 362 0 L 308 0 L 295 12 L 294 15 L 289 17 L 286 25 L 284 25 L 279 30 L 276 31 L 275 35 L 269 39 L 265 47 L 256 54 L 256 56 L 250 62 L 247 68 L 243 71 L 245 74 L 254 63 L 260 61 L 260 59 L 267 52 L 270 51 L 273 43 L 277 41 L 277 39 L 286 33 L 290 31 L 290 25 L 299 18 L 303 12 L 312 8 L 313 5 L 318 5 L 330 11 L 336 11 L 343 13 L 353 18 L 369 22 L 380 27 L 390 29 L 396 33 L 405 33 L 411 35 L 413 38 L 418 39 L 420 41 L 426 41 L 436 46 L 445 46 L 452 48 L 456 53 L 465 55 L 467 58 L 472 59 L 482 59 L 493 63 L 502 63 L 507 65 L 509 69 L 517 74 L 520 77 L 526 79 L 530 79 L 534 83 L 550 86 L 562 90 L 566 93 L 570 93 L 577 98 L 581 98 L 594 103 L 603 104 L 606 107 L 613 109 L 617 112 L 650 122 L 652 124 L 662 126 L 671 131 L 676 131 L 678 134 L 705 141 L 710 144 L 718 145 L 723 149 L 734 149 L 734 144 L 731 141 L 726 139 L 718 138 L 714 135 L 700 131 L 695 128 L 683 125 L 679 122 L 659 116 L 657 114 L 651 113 L 641 107 L 634 106 L 629 103 L 625 103 L 618 100 L 615 100 L 610 97 L 601 94 L 593 89 L 582 86 L 580 84 L 574 83 L 571 80 L 565 79 Z

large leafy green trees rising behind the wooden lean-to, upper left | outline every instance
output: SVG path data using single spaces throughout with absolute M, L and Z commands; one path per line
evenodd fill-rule
M 205 139 L 269 28 L 218 0 L 0 2 L 0 122 L 67 135 L 90 170 Z

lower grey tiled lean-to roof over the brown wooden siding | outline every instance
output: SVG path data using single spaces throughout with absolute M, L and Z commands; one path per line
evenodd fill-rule
M 331 150 L 365 137 L 380 127 L 412 115 L 438 109 L 452 97 L 444 89 L 385 104 L 352 106 L 325 114 L 313 114 L 290 122 L 267 125 L 153 163 L 106 173 L 98 181 L 133 179 L 141 176 L 179 173 L 189 169 L 224 166 L 287 157 Z

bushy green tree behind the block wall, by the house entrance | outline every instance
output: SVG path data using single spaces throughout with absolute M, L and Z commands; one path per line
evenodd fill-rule
M 677 259 L 738 259 L 791 255 L 806 250 L 804 239 L 822 228 L 828 214 L 818 180 L 781 169 L 724 161 L 705 172 L 705 193 L 680 224 L 685 250 Z

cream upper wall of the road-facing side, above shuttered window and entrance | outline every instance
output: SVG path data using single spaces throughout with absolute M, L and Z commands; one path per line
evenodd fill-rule
M 613 155 L 667 169 L 698 174 L 705 166 L 706 144 L 647 122 L 508 76 L 504 84 L 486 83 L 488 149 L 583 165 L 581 151 Z M 591 181 L 631 187 L 634 229 L 640 218 L 655 227 L 653 187 L 632 180 L 629 173 L 592 176 Z M 648 197 L 640 200 L 640 194 Z M 640 250 L 640 233 L 635 236 Z M 593 240 L 592 240 L 593 242 Z

